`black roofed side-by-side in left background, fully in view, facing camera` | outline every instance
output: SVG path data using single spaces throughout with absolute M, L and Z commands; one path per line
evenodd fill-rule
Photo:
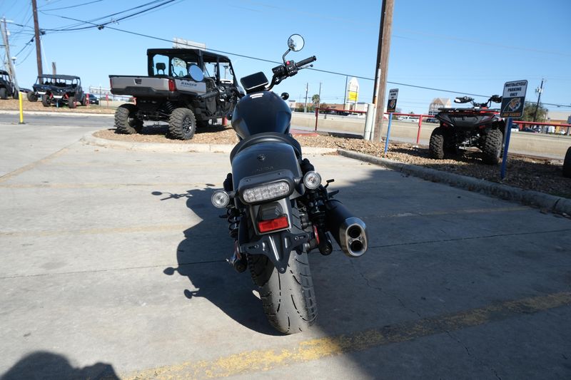
M 34 91 L 28 93 L 28 100 L 35 102 L 41 98 L 44 107 L 53 104 L 65 105 L 69 108 L 76 108 L 77 103 L 81 106 L 86 105 L 86 97 L 81 88 L 79 76 L 44 74 L 37 78 L 32 88 Z

